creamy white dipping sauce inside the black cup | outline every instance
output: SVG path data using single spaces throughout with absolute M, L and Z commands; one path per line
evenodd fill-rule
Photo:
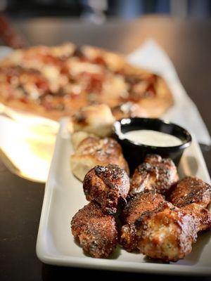
M 176 136 L 153 130 L 128 131 L 127 133 L 122 133 L 122 138 L 127 138 L 129 141 L 151 146 L 165 147 L 182 144 L 182 141 Z

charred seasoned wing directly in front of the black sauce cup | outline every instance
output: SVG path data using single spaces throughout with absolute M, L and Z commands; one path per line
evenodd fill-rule
M 178 180 L 177 168 L 170 158 L 148 155 L 134 171 L 129 195 L 150 190 L 165 194 Z

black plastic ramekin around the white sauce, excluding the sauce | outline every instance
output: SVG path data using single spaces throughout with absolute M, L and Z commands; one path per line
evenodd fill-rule
M 179 138 L 182 143 L 177 146 L 159 147 L 151 145 L 142 145 L 127 138 L 120 138 L 120 133 L 126 133 L 134 130 L 154 130 L 162 133 L 169 133 Z M 170 157 L 178 166 L 184 149 L 191 144 L 191 134 L 186 129 L 176 124 L 154 118 L 124 118 L 113 124 L 113 135 L 122 146 L 123 154 L 129 164 L 131 173 L 136 166 L 143 162 L 147 154 L 158 154 L 162 157 Z

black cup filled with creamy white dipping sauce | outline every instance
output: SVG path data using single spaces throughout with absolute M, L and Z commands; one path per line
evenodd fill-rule
M 121 119 L 113 124 L 113 133 L 122 146 L 131 172 L 147 154 L 170 157 L 178 166 L 184 150 L 192 141 L 186 129 L 156 118 Z

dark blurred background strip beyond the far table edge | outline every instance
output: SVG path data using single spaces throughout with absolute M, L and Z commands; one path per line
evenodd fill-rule
M 1 11 L 15 18 L 39 16 L 138 18 L 149 13 L 210 18 L 210 0 L 1 0 Z

